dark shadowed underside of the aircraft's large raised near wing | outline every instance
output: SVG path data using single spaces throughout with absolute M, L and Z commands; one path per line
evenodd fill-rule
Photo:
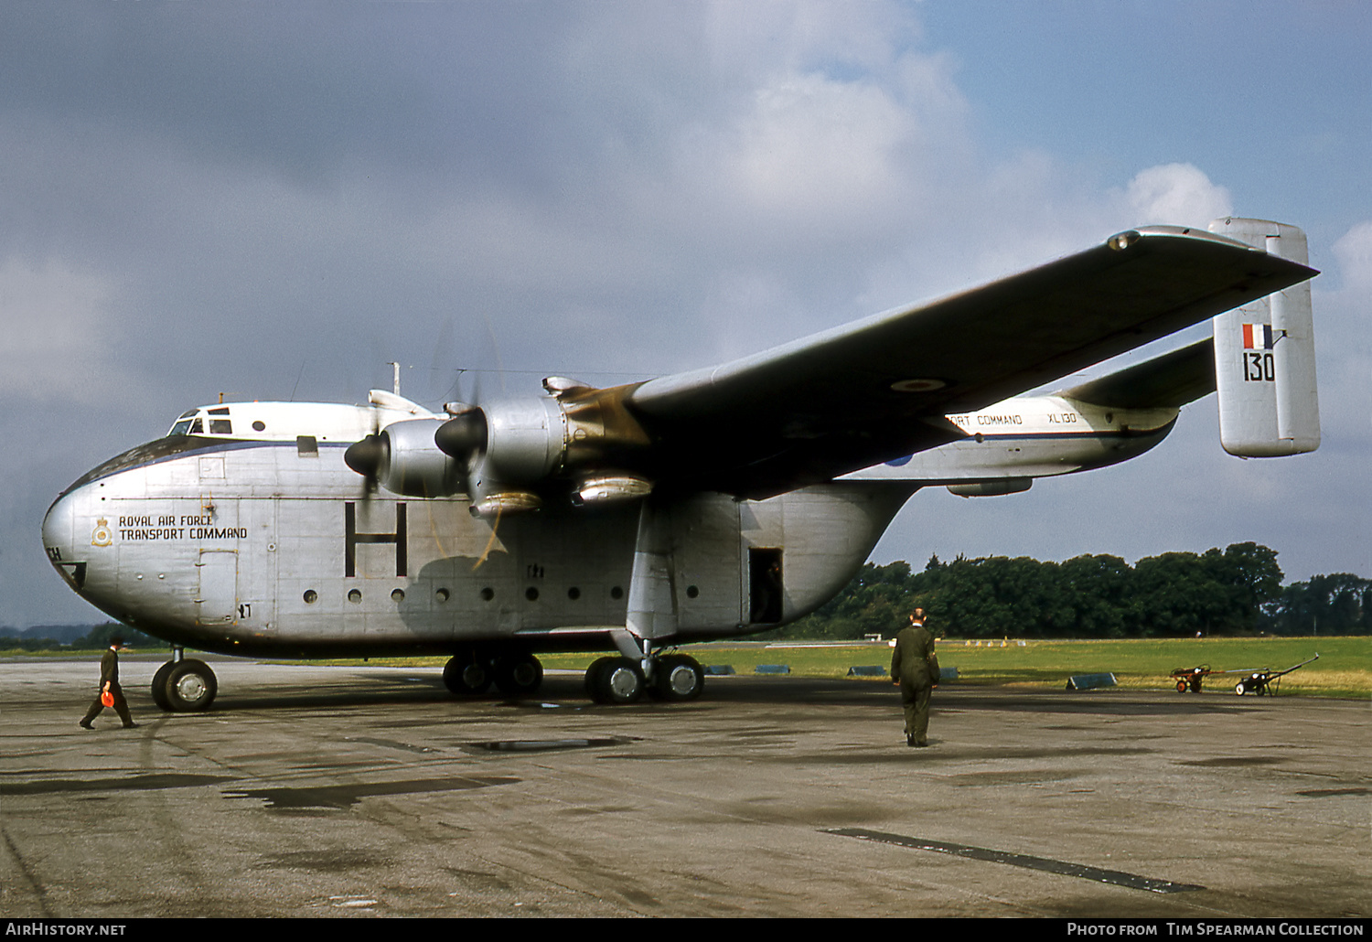
M 760 498 L 963 437 L 982 409 L 1316 274 L 1154 226 L 941 300 L 649 380 L 626 400 L 660 483 Z

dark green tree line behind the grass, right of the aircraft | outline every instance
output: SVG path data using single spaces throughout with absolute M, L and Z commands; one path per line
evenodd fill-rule
M 1338 573 L 1283 587 L 1276 550 L 1163 553 L 1129 566 L 1120 557 L 1066 562 L 1029 557 L 930 557 L 866 564 L 848 587 L 772 638 L 895 635 L 915 607 L 955 638 L 1187 638 L 1372 633 L 1372 581 Z

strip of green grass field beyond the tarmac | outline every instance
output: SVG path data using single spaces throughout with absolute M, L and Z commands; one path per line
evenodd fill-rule
M 793 675 L 809 677 L 844 677 L 852 666 L 890 666 L 890 647 L 884 642 L 716 642 L 681 649 L 704 665 L 730 665 L 735 673 L 753 673 L 759 664 L 785 664 Z M 958 668 L 958 684 L 1000 684 L 1062 688 L 1067 677 L 1078 673 L 1113 673 L 1120 687 L 1131 690 L 1173 690 L 1169 675 L 1177 668 L 1207 664 L 1214 671 L 1280 671 L 1314 654 L 1314 664 L 1281 677 L 1280 695 L 1303 697 L 1372 697 L 1372 638 L 1200 638 L 1118 642 L 1019 642 L 1007 640 L 977 646 L 958 639 L 940 639 L 938 662 Z M 60 651 L 0 651 L 18 657 L 71 657 Z M 88 657 L 97 658 L 97 651 Z M 593 654 L 539 655 L 545 668 L 584 671 Z M 442 668 L 446 658 L 373 658 L 370 664 Z M 361 664 L 361 661 L 329 661 Z M 1211 675 L 1205 680 L 1210 691 L 1233 690 L 1238 676 Z M 882 677 L 889 683 L 889 679 Z M 874 683 L 862 679 L 859 683 Z

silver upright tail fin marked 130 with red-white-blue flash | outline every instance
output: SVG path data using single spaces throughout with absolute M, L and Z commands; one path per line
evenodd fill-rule
M 1210 232 L 1308 263 L 1305 233 L 1266 219 L 1222 218 Z M 1310 282 L 1214 318 L 1220 443 L 1232 455 L 1268 458 L 1320 447 Z

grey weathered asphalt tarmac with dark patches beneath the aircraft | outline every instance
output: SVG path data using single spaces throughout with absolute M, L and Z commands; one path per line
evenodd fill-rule
M 1367 701 L 711 677 L 693 703 L 458 701 L 438 669 L 0 664 L 0 915 L 1351 917 Z

